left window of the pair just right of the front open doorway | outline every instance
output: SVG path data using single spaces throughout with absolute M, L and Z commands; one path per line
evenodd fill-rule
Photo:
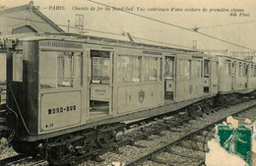
M 141 57 L 118 56 L 118 83 L 139 83 L 141 82 Z

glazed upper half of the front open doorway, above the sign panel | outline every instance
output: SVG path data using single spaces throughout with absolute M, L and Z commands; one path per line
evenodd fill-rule
M 92 82 L 109 83 L 110 52 L 91 51 L 92 56 Z

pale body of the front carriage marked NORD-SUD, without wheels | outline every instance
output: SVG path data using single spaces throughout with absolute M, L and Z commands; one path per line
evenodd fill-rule
M 145 118 L 217 93 L 215 61 L 201 52 L 96 39 L 34 35 L 9 48 L 7 106 L 20 117 L 19 138 Z

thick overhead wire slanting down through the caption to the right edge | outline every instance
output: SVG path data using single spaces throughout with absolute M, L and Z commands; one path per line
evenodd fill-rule
M 113 7 L 113 6 L 109 6 L 109 5 L 106 5 L 106 4 L 102 4 L 102 3 L 96 2 L 96 1 L 94 1 L 94 0 L 88 0 L 88 1 L 89 1 L 89 2 L 92 2 L 92 3 L 95 3 L 95 4 L 97 4 L 97 5 L 104 6 L 104 7 L 108 7 L 108 8 L 112 8 L 112 9 L 115 8 L 115 7 Z M 127 14 L 130 14 L 130 15 L 134 15 L 134 16 L 137 16 L 137 17 L 140 17 L 140 18 L 144 18 L 144 19 L 147 19 L 147 20 L 150 20 L 150 21 L 154 21 L 154 22 L 157 22 L 157 23 L 160 23 L 160 24 L 163 24 L 163 25 L 171 26 L 171 27 L 174 27 L 174 28 L 181 28 L 181 29 L 184 29 L 184 30 L 188 30 L 188 31 L 192 31 L 192 32 L 195 32 L 195 33 L 199 33 L 199 34 L 201 34 L 201 35 L 204 35 L 204 36 L 207 36 L 207 37 L 216 39 L 216 40 L 220 40 L 220 41 L 225 42 L 225 43 L 228 43 L 228 44 L 230 44 L 230 45 L 234 45 L 234 46 L 237 46 L 237 47 L 240 47 L 240 48 L 244 48 L 244 49 L 248 49 L 248 50 L 251 50 L 251 51 L 255 51 L 255 49 L 252 49 L 252 48 L 249 48 L 249 47 L 240 45 L 240 44 L 236 44 L 236 43 L 233 43 L 233 42 L 230 42 L 230 41 L 226 41 L 226 40 L 224 40 L 224 39 L 221 39 L 221 38 L 212 36 L 212 35 L 210 35 L 210 34 L 206 34 L 206 33 L 203 33 L 203 32 L 199 32 L 199 31 L 194 30 L 194 29 L 192 29 L 192 28 L 183 28 L 183 27 L 181 27 L 181 26 L 177 26 L 177 25 L 173 25 L 173 24 L 170 24 L 170 23 L 166 23 L 166 22 L 160 21 L 160 20 L 158 20 L 158 19 L 150 18 L 150 17 L 143 16 L 143 15 L 139 15 L 139 14 L 136 14 L 136 13 L 133 13 L 133 12 L 129 12 L 129 11 L 125 11 L 125 10 L 122 10 L 122 9 L 119 9 L 118 11 L 121 11 L 121 12 L 124 12 L 124 13 L 127 13 Z

